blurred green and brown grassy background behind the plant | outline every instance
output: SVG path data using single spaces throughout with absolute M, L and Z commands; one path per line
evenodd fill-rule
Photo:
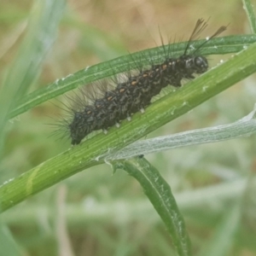
M 33 3 L 1 0 L 1 84 Z M 98 62 L 160 45 L 159 27 L 166 42 L 186 40 L 195 21 L 210 16 L 202 37 L 229 23 L 224 35 L 250 32 L 240 0 L 67 0 L 55 44 L 30 91 Z M 228 57 L 212 56 L 210 64 Z M 252 76 L 148 137 L 231 123 L 253 110 L 255 98 Z M 46 124 L 59 114 L 61 109 L 47 102 L 9 121 L 1 183 L 69 148 L 69 142 L 49 137 L 53 130 Z M 255 142 L 253 136 L 146 156 L 177 196 L 195 255 L 207 255 L 211 246 L 216 252 L 223 248 L 216 255 L 256 255 Z M 238 198 L 241 215 L 233 219 L 230 209 Z M 1 256 L 175 255 L 137 181 L 121 171 L 112 175 L 107 164 L 32 196 L 4 212 L 0 224 Z

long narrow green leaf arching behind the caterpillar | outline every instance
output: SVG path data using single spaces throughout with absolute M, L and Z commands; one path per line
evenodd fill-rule
M 200 45 L 202 41 L 195 43 Z M 225 38 L 214 38 L 204 46 L 201 50 L 203 55 L 213 54 L 228 54 L 235 53 L 243 49 L 248 44 L 256 42 L 255 35 L 243 35 L 243 36 L 230 36 Z M 173 57 L 177 57 L 183 54 L 183 50 L 186 43 L 173 44 L 171 46 Z M 168 45 L 166 45 L 166 51 L 168 51 Z M 69 90 L 78 88 L 84 84 L 90 84 L 99 79 L 105 79 L 113 74 L 123 73 L 131 69 L 137 68 L 141 65 L 148 64 L 148 58 L 159 62 L 165 58 L 165 51 L 160 47 L 153 49 L 146 49 L 139 51 L 131 55 L 124 55 L 111 61 L 102 62 L 95 66 L 86 67 L 84 70 L 80 70 L 77 73 L 69 74 L 66 78 L 57 79 L 54 83 L 48 86 L 35 90 L 29 95 L 25 96 L 19 105 L 9 113 L 9 118 L 14 118 L 20 113 L 26 112 L 30 108 L 36 107 L 38 104 L 49 101 L 56 96 L 60 96 Z M 135 63 L 136 61 L 136 63 Z

